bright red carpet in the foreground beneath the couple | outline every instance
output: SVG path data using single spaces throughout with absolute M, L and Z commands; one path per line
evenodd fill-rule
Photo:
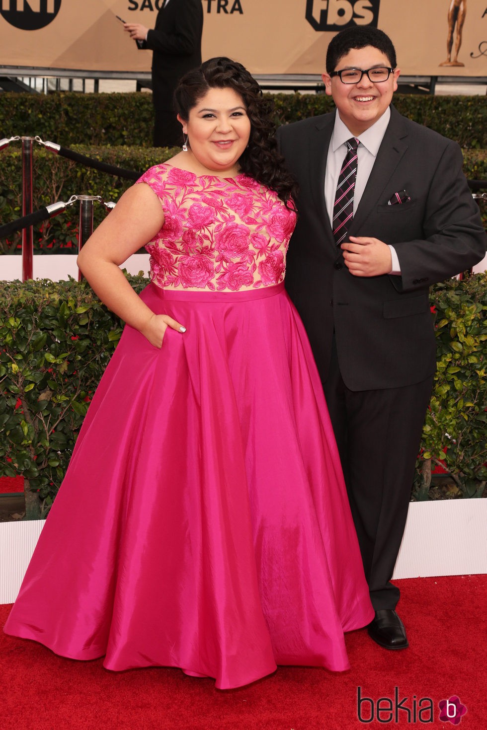
M 215 690 L 212 680 L 186 677 L 179 669 L 107 672 L 101 659 L 64 659 L 0 632 L 0 727 L 348 730 L 399 725 L 485 730 L 486 583 L 485 575 L 398 580 L 409 649 L 381 649 L 366 631 L 355 631 L 347 636 L 352 666 L 348 672 L 278 667 L 271 677 L 231 691 Z M 0 626 L 8 612 L 9 606 L 0 606 Z M 374 702 L 372 722 L 358 719 L 358 686 L 362 696 Z M 396 687 L 399 702 L 407 698 L 402 707 L 409 709 L 409 714 L 397 710 L 397 722 Z M 467 707 L 459 725 L 439 719 L 438 703 L 452 696 L 459 696 Z M 371 702 L 364 701 L 361 709 L 362 719 L 369 720 Z

